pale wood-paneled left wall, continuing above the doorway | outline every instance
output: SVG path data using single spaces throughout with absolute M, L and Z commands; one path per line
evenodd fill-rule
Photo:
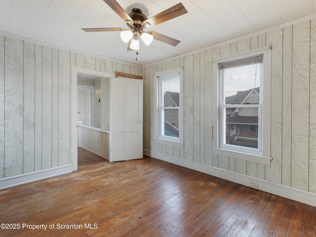
M 72 162 L 72 66 L 143 75 L 142 67 L 0 36 L 0 178 Z

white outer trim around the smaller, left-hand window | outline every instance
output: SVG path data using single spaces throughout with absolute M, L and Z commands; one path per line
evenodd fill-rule
M 168 139 L 166 138 L 161 138 L 159 137 L 159 103 L 158 103 L 158 88 L 159 88 L 159 77 L 165 77 L 168 75 L 172 75 L 175 73 L 179 73 L 180 77 L 180 94 L 179 94 L 179 139 Z M 183 148 L 183 68 L 175 68 L 175 69 L 170 69 L 162 72 L 157 72 L 154 75 L 154 104 L 155 104 L 155 109 L 154 109 L 154 142 L 164 144 L 164 145 L 169 145 L 169 146 L 174 146 L 174 147 L 180 147 Z

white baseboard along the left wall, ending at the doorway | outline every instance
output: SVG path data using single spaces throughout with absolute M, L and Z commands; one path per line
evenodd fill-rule
M 70 172 L 73 172 L 72 164 L 2 178 L 0 179 L 0 190 Z

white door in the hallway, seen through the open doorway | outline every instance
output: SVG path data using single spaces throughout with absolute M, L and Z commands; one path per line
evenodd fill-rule
M 78 89 L 78 121 L 83 125 L 92 126 L 91 89 Z

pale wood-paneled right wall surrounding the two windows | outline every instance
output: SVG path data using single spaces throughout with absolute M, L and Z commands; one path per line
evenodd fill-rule
M 211 152 L 212 59 L 272 44 L 271 165 Z M 154 142 L 154 73 L 184 67 L 184 149 Z M 316 19 L 144 68 L 144 149 L 316 193 Z

